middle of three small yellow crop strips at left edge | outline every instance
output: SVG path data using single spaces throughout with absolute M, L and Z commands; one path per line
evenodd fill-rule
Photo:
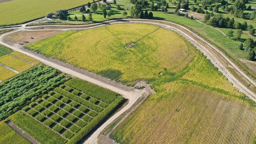
M 10 55 L 4 55 L 0 57 L 0 63 L 9 66 L 10 68 L 15 69 L 19 72 L 25 71 L 33 67 L 33 65 L 23 62 L 22 60 L 16 59 Z

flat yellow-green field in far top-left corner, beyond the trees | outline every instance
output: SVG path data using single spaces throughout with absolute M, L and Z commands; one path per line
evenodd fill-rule
M 71 9 L 91 0 L 12 0 L 0 3 L 0 26 L 15 25 L 46 16 L 47 12 Z

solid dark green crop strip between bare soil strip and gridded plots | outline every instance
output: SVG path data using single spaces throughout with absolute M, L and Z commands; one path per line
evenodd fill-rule
M 27 114 L 18 111 L 11 115 L 8 119 L 14 122 L 18 127 L 30 134 L 40 143 L 63 144 L 66 142 L 60 135 L 54 133 L 43 124 L 31 118 Z

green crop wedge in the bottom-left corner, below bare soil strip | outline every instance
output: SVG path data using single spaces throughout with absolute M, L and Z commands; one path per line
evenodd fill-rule
M 31 144 L 4 121 L 0 122 L 0 144 Z

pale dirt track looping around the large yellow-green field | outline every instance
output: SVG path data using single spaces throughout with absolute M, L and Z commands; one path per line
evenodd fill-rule
M 119 112 L 114 114 L 110 119 L 108 119 L 105 123 L 103 123 L 86 141 L 85 143 L 97 143 L 97 137 L 100 134 L 100 132 L 108 126 L 114 119 L 119 117 L 123 112 L 128 110 L 137 100 L 138 98 L 143 95 L 144 93 L 149 94 L 152 92 L 150 88 L 144 89 L 143 91 L 135 90 L 133 87 L 128 87 L 122 84 L 119 84 L 117 82 L 108 80 L 106 78 L 102 78 L 101 76 L 98 76 L 96 74 L 90 73 L 89 71 L 79 69 L 75 66 L 72 66 L 70 64 L 66 64 L 64 62 L 60 62 L 59 60 L 55 60 L 52 58 L 48 58 L 44 55 L 38 54 L 36 52 L 33 52 L 31 50 L 25 49 L 22 46 L 15 44 L 13 46 L 6 44 L 3 42 L 4 36 L 18 32 L 18 31 L 49 31 L 49 30 L 62 30 L 62 31 L 69 31 L 69 30 L 86 30 L 91 28 L 97 28 L 112 24 L 118 24 L 118 23 L 146 23 L 146 24 L 152 24 L 152 25 L 158 25 L 160 27 L 166 28 L 177 32 L 181 36 L 185 37 L 188 41 L 190 41 L 194 46 L 196 46 L 201 52 L 204 53 L 204 55 L 207 56 L 208 59 L 211 60 L 211 62 L 223 73 L 223 75 L 228 78 L 229 81 L 231 81 L 234 86 L 238 87 L 238 89 L 242 92 L 244 92 L 247 96 L 249 96 L 252 100 L 256 102 L 256 95 L 254 92 L 247 89 L 246 86 L 244 86 L 238 78 L 236 78 L 233 74 L 230 73 L 228 70 L 228 67 L 233 68 L 235 71 L 237 71 L 244 79 L 246 79 L 248 82 L 250 82 L 252 85 L 256 86 L 256 82 L 252 80 L 249 76 L 247 76 L 244 71 L 242 71 L 238 66 L 233 63 L 223 52 L 221 52 L 218 48 L 214 47 L 212 44 L 208 43 L 203 38 L 199 37 L 197 34 L 193 33 L 192 31 L 188 30 L 186 27 L 180 26 L 176 23 L 167 22 L 167 21 L 160 21 L 160 20 L 142 20 L 142 19 L 120 19 L 120 20 L 110 20 L 107 22 L 101 22 L 101 23 L 95 23 L 91 25 L 79 25 L 79 26 L 43 26 L 43 29 L 39 29 L 39 27 L 42 26 L 28 26 L 22 25 L 22 27 L 18 27 L 16 30 L 7 32 L 5 34 L 2 34 L 0 36 L 0 44 L 9 47 L 15 51 L 21 52 L 23 54 L 26 54 L 30 57 L 33 57 L 42 63 L 52 66 L 53 68 L 59 69 L 60 71 L 63 71 L 64 73 L 68 73 L 70 75 L 76 76 L 78 78 L 87 80 L 89 82 L 92 82 L 94 84 L 97 84 L 99 86 L 105 87 L 107 89 L 110 89 L 112 91 L 118 92 L 119 94 L 123 95 L 125 98 L 129 100 L 129 103 L 122 108 Z M 38 28 L 38 29 L 37 29 Z

